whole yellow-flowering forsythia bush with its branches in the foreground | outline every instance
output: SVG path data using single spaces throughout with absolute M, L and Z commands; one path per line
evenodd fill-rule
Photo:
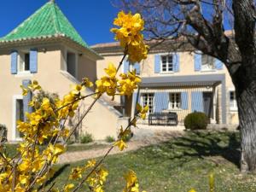
M 148 46 L 143 42 L 141 32 L 144 21 L 141 15 L 120 12 L 113 24 L 119 28 L 113 28 L 111 31 L 116 34 L 115 38 L 124 48 L 124 56 L 119 62 L 119 67 L 126 56 L 131 63 L 146 59 Z M 54 101 L 49 101 L 47 97 L 40 101 L 37 99 L 37 93 L 42 89 L 36 80 L 28 87 L 21 86 L 23 96 L 33 95 L 29 106 L 34 109 L 34 112 L 26 113 L 26 121 L 18 122 L 17 128 L 23 136 L 23 140 L 17 148 L 18 154 L 10 158 L 3 153 L 1 149 L 3 146 L 0 148 L 0 192 L 37 192 L 39 189 L 52 192 L 75 192 L 84 187 L 84 183 L 90 187 L 91 191 L 103 192 L 108 171 L 102 166 L 102 162 L 113 148 L 118 147 L 123 150 L 127 147 L 125 137 L 131 133 L 131 125 L 136 126 L 138 118 L 146 118 L 148 106 L 144 107 L 137 104 L 135 117 L 125 128 L 120 127 L 118 140 L 113 143 L 113 146 L 109 148 L 101 160 L 88 160 L 84 166 L 73 168 L 62 189 L 56 189 L 55 183 L 49 186 L 49 189 L 45 189 L 45 184 L 54 173 L 52 166 L 57 162 L 59 155 L 65 153 L 68 139 L 79 127 L 82 119 L 89 113 L 96 101 L 105 93 L 114 99 L 116 95 L 131 96 L 133 91 L 137 89 L 137 84 L 140 83 L 141 79 L 136 75 L 136 71 L 127 74 L 120 73 L 117 77 L 119 67 L 116 68 L 110 63 L 105 69 L 106 76 L 96 80 L 96 92 L 87 96 L 84 95 L 84 90 L 93 86 L 93 83 L 87 78 L 84 78 L 81 84 L 75 84 L 73 90 L 63 96 L 62 99 L 56 97 Z M 74 116 L 76 109 L 79 108 L 79 102 L 89 96 L 95 96 L 94 101 L 84 112 L 78 125 L 68 130 L 65 126 L 67 119 Z M 45 145 L 46 142 L 48 143 Z M 39 146 L 41 147 L 40 150 Z M 74 180 L 79 180 L 79 184 L 75 186 Z M 125 175 L 125 180 L 126 185 L 123 192 L 139 192 L 135 172 L 129 171 Z

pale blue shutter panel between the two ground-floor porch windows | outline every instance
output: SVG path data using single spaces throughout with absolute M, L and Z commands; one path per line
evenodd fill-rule
M 154 94 L 154 112 L 161 112 L 168 108 L 169 93 L 157 92 Z

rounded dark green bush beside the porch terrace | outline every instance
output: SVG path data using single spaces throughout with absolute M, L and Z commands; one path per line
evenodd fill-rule
M 184 119 L 184 125 L 189 130 L 206 130 L 209 118 L 205 113 L 189 113 Z

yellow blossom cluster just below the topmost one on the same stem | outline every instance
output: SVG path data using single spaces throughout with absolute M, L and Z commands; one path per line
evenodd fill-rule
M 115 95 L 131 96 L 141 82 L 141 79 L 136 75 L 136 71 L 128 74 L 120 73 L 120 79 L 118 79 L 116 77 L 117 68 L 114 67 L 113 63 L 109 63 L 108 68 L 105 68 L 105 72 L 107 76 L 96 80 L 96 92 L 98 94 L 107 93 L 113 99 Z

